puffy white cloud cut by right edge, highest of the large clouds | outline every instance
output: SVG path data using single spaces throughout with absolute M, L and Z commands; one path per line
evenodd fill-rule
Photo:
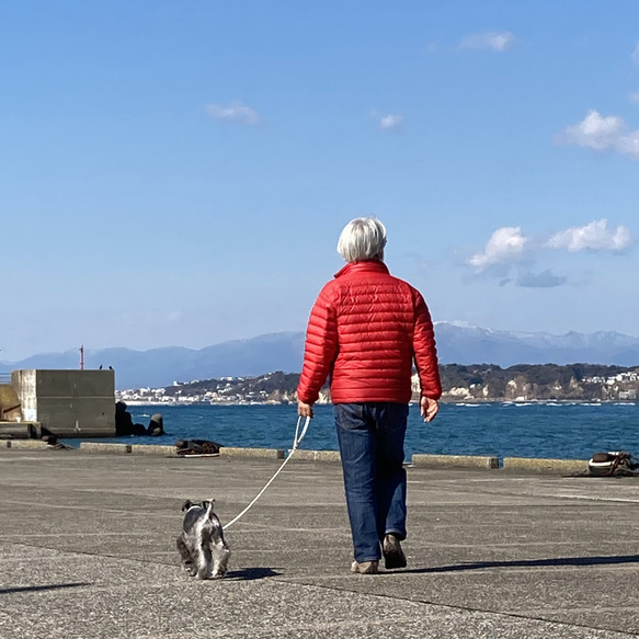
M 557 142 L 639 158 L 639 130 L 628 132 L 624 118 L 618 115 L 604 117 L 594 109 L 579 124 L 567 126 Z

